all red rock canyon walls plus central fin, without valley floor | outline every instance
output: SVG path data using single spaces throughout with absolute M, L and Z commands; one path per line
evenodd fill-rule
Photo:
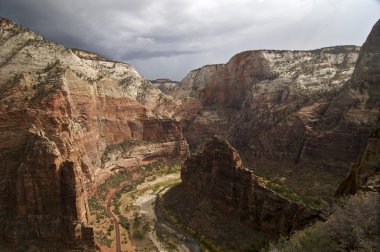
M 379 45 L 380 21 L 362 47 L 245 51 L 150 82 L 0 18 L 0 245 L 96 251 L 105 181 L 190 152 L 163 209 L 226 248 L 324 219 L 339 184 L 378 190 Z

